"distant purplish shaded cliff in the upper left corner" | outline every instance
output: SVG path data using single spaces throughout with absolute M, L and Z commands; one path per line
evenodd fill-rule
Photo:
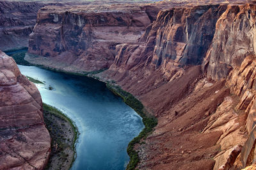
M 43 3 L 0 2 L 0 50 L 28 47 L 28 36 Z

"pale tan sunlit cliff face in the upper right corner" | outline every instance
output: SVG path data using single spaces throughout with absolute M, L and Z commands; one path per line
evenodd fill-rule
M 228 5 L 216 23 L 211 48 L 205 57 L 207 75 L 219 80 L 240 66 L 248 54 L 255 54 L 255 4 Z

